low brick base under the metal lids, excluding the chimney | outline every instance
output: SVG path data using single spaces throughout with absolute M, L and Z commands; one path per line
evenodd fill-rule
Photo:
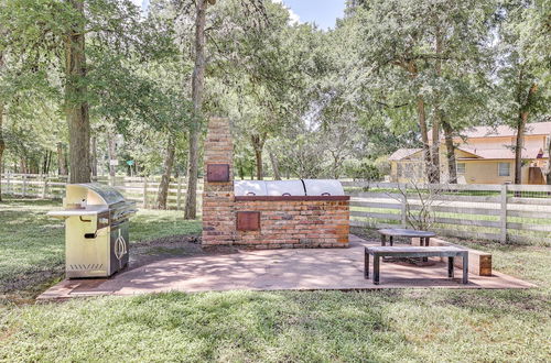
M 237 211 L 260 211 L 259 231 L 236 231 L 235 244 L 255 249 L 346 248 L 349 201 L 236 201 Z

